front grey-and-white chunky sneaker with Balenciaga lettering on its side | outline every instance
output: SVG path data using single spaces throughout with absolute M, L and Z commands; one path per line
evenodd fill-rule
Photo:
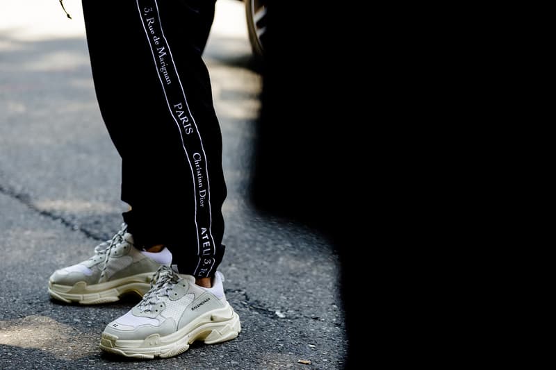
M 238 314 L 224 296 L 224 276 L 216 272 L 210 289 L 195 278 L 162 266 L 142 301 L 102 333 L 100 348 L 131 358 L 169 358 L 196 340 L 215 344 L 241 331 Z

